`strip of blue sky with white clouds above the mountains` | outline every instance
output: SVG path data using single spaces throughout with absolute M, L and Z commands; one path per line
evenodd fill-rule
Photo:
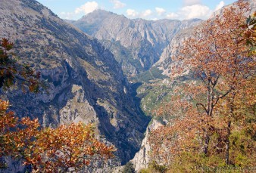
M 235 0 L 37 0 L 62 19 L 78 20 L 97 9 L 145 20 L 199 18 L 206 20 L 214 11 Z

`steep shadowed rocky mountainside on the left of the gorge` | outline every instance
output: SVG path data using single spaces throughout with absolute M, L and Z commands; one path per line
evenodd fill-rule
M 148 119 L 110 51 L 33 0 L 1 1 L 0 37 L 14 42 L 20 63 L 48 80 L 48 94 L 1 91 L 17 115 L 45 126 L 93 122 L 98 136 L 117 147 L 112 164 L 133 158 Z

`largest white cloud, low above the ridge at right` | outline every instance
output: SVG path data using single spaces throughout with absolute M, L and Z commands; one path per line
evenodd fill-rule
M 205 5 L 190 5 L 181 8 L 176 13 L 167 14 L 167 18 L 188 20 L 193 18 L 208 19 L 213 11 Z

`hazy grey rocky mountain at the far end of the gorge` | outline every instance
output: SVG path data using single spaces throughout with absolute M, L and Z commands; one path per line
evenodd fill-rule
M 201 20 L 131 20 L 123 15 L 97 10 L 80 20 L 67 20 L 109 48 L 131 77 L 149 70 L 173 36 Z

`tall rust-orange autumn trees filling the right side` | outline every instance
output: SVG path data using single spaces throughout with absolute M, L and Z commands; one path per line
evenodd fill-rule
M 225 8 L 172 57 L 173 80 L 188 71 L 194 76 L 176 84 L 158 110 L 175 119 L 151 134 L 153 157 L 173 171 L 255 165 L 255 23 L 244 17 L 248 10 L 243 1 Z

